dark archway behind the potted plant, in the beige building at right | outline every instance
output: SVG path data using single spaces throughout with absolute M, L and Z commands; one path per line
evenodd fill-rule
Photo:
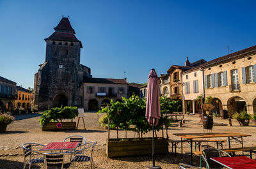
M 234 115 L 235 112 L 240 113 L 243 110 L 247 111 L 245 100 L 238 96 L 228 99 L 227 106 L 228 106 L 228 115 Z

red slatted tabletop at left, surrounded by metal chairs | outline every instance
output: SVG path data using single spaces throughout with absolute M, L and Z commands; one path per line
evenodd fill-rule
M 76 150 L 80 142 L 51 142 L 45 145 L 39 151 L 65 151 Z

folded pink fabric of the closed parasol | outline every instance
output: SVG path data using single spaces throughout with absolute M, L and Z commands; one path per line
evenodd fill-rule
M 146 119 L 150 125 L 157 126 L 161 117 L 159 80 L 156 71 L 152 69 L 148 75 Z

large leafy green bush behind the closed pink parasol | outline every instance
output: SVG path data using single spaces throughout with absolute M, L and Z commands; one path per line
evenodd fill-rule
M 141 99 L 135 95 L 132 95 L 130 98 L 122 99 L 123 102 L 116 103 L 111 100 L 109 107 L 104 107 L 102 110 L 99 110 L 98 113 L 106 113 L 107 115 L 107 117 L 102 117 L 104 119 L 100 121 L 106 122 L 109 117 L 109 124 L 113 124 L 118 128 L 143 134 L 151 131 L 152 126 L 148 124 L 145 118 L 146 99 Z M 163 114 L 172 113 L 179 109 L 177 101 L 172 101 L 166 97 L 160 98 L 160 103 L 161 118 L 156 126 L 157 131 L 163 129 L 163 124 L 170 125 L 170 121 L 166 117 L 163 117 Z

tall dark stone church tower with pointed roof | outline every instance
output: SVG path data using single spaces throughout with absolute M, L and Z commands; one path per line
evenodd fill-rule
M 35 73 L 34 108 L 82 106 L 83 77 L 92 77 L 90 68 L 80 64 L 81 41 L 68 18 L 63 17 L 46 38 L 45 62 Z

